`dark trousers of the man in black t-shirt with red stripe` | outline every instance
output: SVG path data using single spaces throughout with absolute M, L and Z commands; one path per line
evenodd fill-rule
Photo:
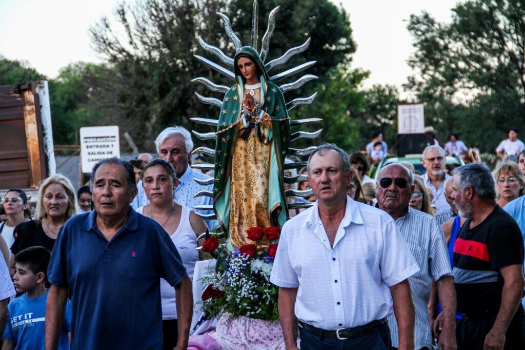
M 482 350 L 497 315 L 498 311 L 490 311 L 463 316 L 456 327 L 458 349 Z M 525 313 L 521 304 L 505 333 L 504 349 L 525 349 Z

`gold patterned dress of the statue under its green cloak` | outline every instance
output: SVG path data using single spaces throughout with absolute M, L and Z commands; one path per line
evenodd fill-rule
M 245 88 L 245 94 L 251 89 Z M 260 100 L 260 88 L 254 88 L 254 98 Z M 250 120 L 254 122 L 254 120 Z M 271 130 L 271 122 L 259 124 L 263 135 Z M 239 124 L 238 135 L 245 130 Z M 253 243 L 246 238 L 246 231 L 252 227 L 270 227 L 268 210 L 268 181 L 270 172 L 270 151 L 272 143 L 267 139 L 261 142 L 254 131 L 248 139 L 238 137 L 235 141 L 232 159 L 232 182 L 230 183 L 230 239 L 234 246 Z M 263 241 L 262 246 L 270 244 Z

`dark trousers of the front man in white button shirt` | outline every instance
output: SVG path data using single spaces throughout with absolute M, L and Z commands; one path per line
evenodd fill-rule
M 299 328 L 301 334 L 301 350 L 388 350 L 391 345 L 390 329 L 385 323 L 375 328 L 374 332 L 353 339 L 339 340 L 326 338 Z

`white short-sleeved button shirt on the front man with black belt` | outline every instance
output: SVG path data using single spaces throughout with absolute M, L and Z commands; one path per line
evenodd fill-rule
M 394 220 L 347 197 L 332 249 L 318 205 L 283 225 L 270 282 L 298 287 L 297 318 L 324 330 L 391 314 L 389 287 L 419 270 Z

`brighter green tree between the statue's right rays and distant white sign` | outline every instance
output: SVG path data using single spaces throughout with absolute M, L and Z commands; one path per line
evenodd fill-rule
M 311 106 L 297 107 L 290 113 L 292 119 L 322 118 L 321 137 L 316 143 L 330 142 L 347 151 L 364 149 L 372 134 L 382 130 L 388 145 L 395 142 L 393 128 L 397 118 L 398 91 L 393 86 L 374 85 L 363 89 L 363 81 L 370 73 L 362 69 L 351 69 L 348 65 L 332 70 L 326 83 L 318 84 L 316 102 Z M 304 128 L 319 129 L 319 124 Z M 296 141 L 294 147 L 300 142 Z M 306 147 L 311 140 L 302 141 Z

